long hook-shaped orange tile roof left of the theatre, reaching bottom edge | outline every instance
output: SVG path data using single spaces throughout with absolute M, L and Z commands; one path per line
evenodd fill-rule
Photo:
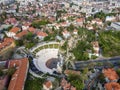
M 25 79 L 28 71 L 28 59 L 23 58 L 19 60 L 11 60 L 9 62 L 9 68 L 16 67 L 15 73 L 12 75 L 8 90 L 23 90 Z

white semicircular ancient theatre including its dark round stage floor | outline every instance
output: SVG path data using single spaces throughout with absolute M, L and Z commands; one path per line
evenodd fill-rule
M 63 58 L 59 54 L 59 42 L 44 42 L 36 45 L 30 51 L 33 53 L 34 66 L 43 73 L 61 72 Z

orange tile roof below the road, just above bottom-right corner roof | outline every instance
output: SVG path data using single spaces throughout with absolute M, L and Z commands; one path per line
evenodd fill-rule
M 119 78 L 119 76 L 117 75 L 117 73 L 114 69 L 110 69 L 110 68 L 104 69 L 103 74 L 109 80 L 117 80 Z

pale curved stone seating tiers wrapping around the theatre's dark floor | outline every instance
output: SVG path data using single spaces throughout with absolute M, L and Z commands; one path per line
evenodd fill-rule
M 57 46 L 58 45 L 58 46 Z M 52 74 L 53 69 L 50 69 L 46 66 L 46 62 L 52 58 L 58 58 L 59 43 L 50 42 L 46 44 L 41 44 L 31 50 L 36 57 L 33 59 L 33 64 L 35 67 L 43 72 Z

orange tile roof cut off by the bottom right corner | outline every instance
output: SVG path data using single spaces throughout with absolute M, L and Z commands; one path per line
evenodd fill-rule
M 106 90 L 120 90 L 120 84 L 116 82 L 110 82 L 105 84 Z

